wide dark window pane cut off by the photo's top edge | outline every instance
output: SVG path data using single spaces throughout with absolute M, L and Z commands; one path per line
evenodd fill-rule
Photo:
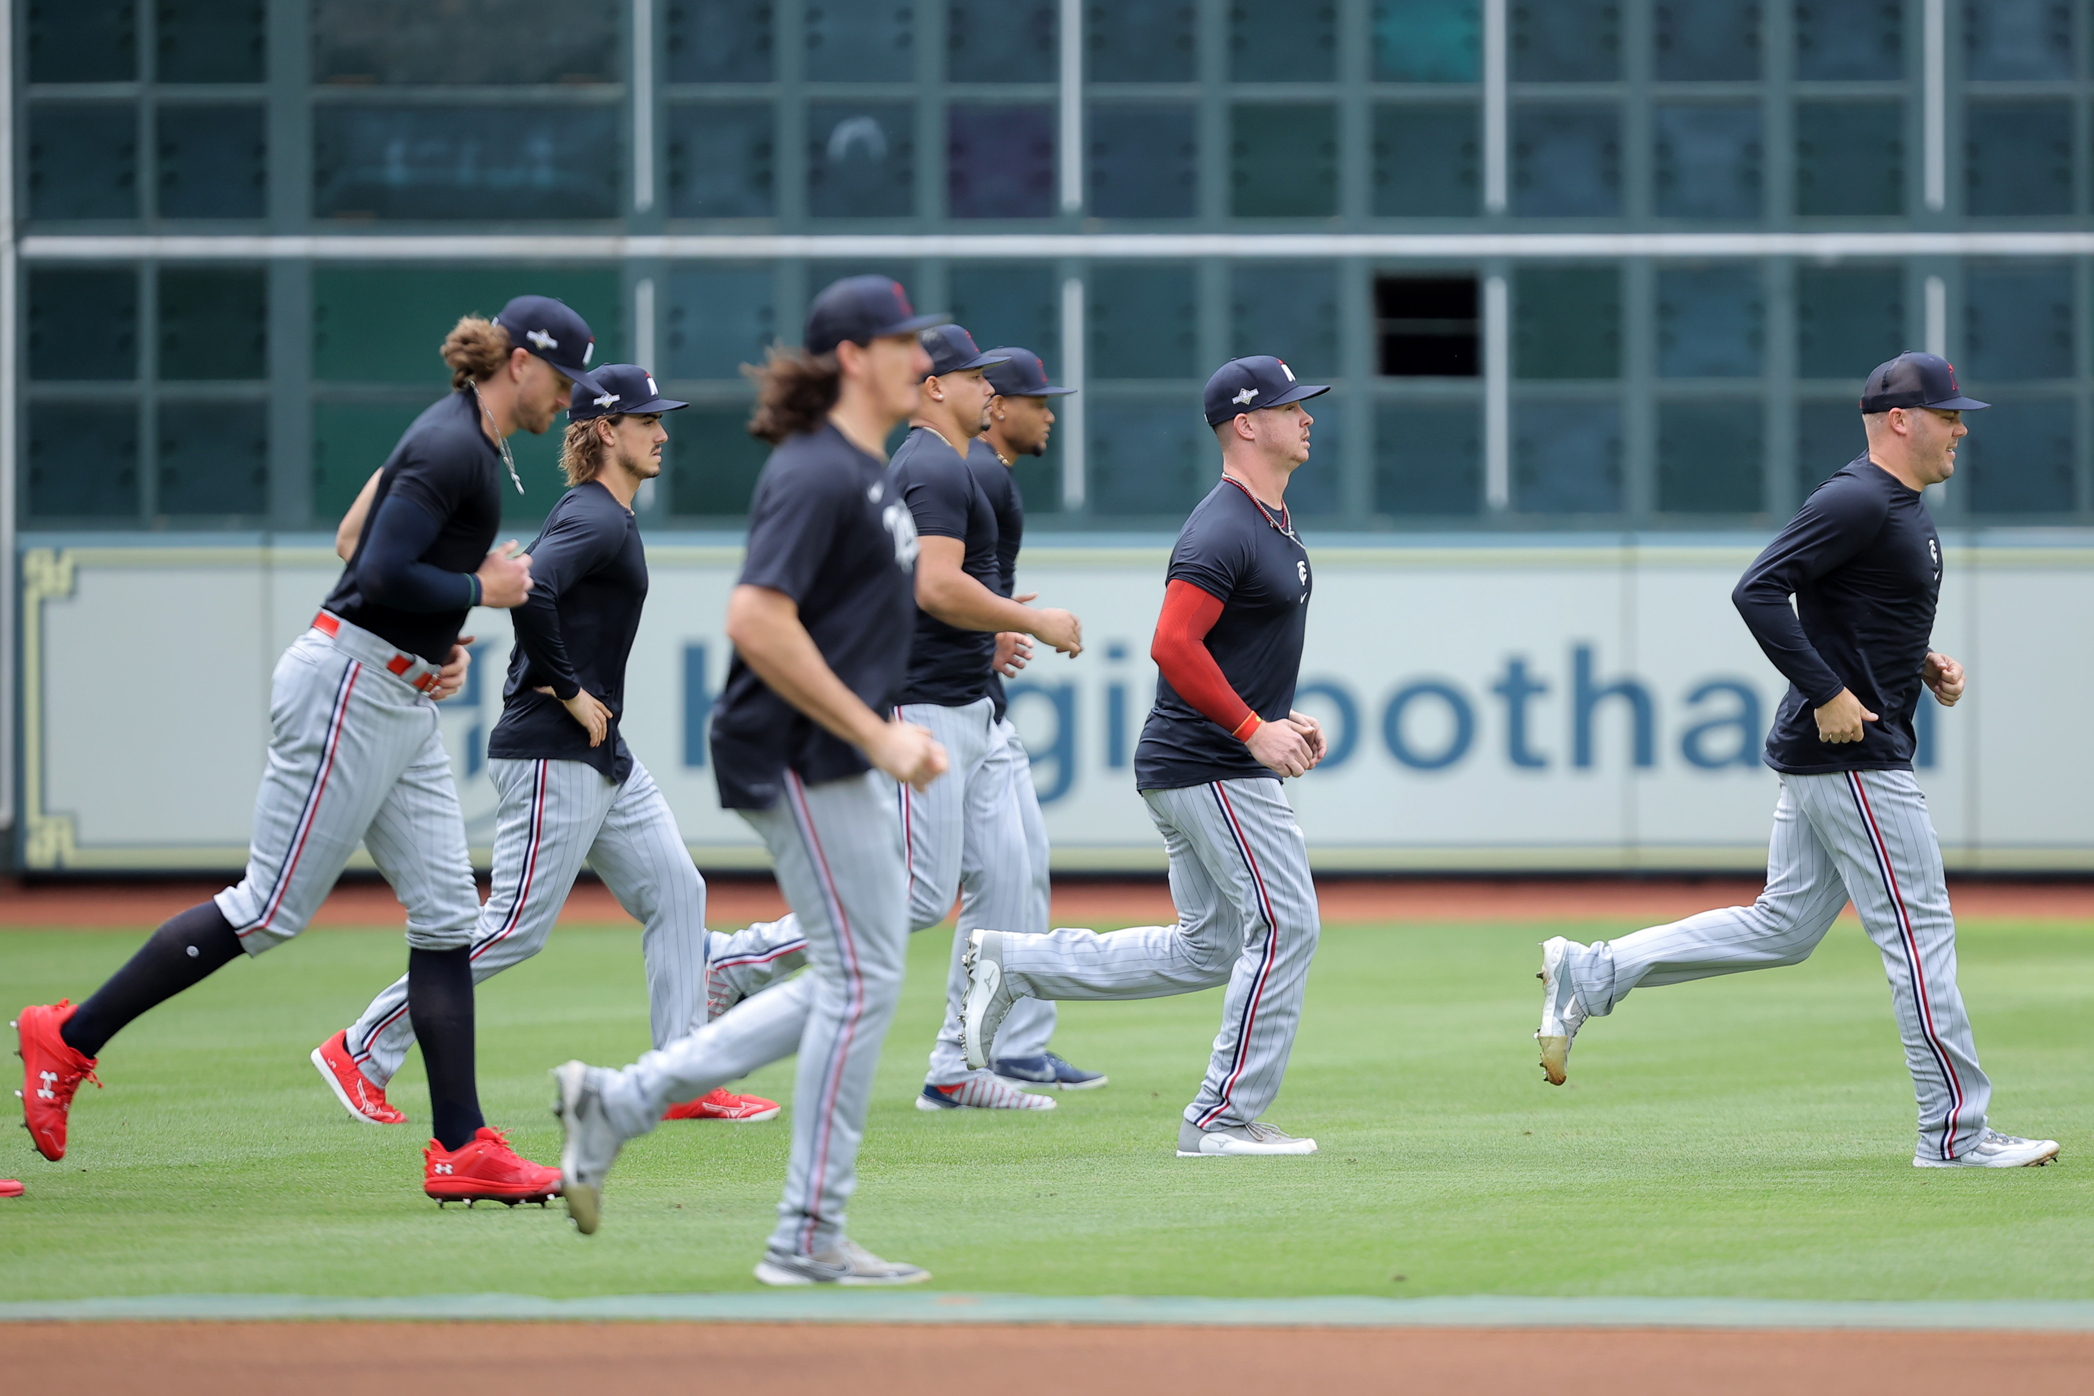
M 624 6 L 572 0 L 314 4 L 312 80 L 350 84 L 620 82 Z

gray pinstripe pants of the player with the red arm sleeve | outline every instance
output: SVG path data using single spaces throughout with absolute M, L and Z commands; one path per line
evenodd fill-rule
M 1032 998 L 1162 998 L 1227 984 L 1221 1032 L 1185 1120 L 1250 1124 L 1279 1095 L 1321 919 L 1309 843 L 1279 781 L 1141 791 L 1171 852 L 1177 925 L 1003 942 L 1003 980 Z

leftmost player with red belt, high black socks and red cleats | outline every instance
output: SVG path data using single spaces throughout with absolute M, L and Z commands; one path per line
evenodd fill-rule
M 341 580 L 276 661 L 245 879 L 161 925 L 86 1003 L 17 1019 L 25 1126 L 44 1157 L 65 1157 L 73 1093 L 124 1023 L 297 936 L 362 841 L 406 906 L 406 1005 L 436 1134 L 423 1191 L 513 1203 L 559 1189 L 557 1170 L 517 1157 L 480 1116 L 480 894 L 433 701 L 465 682 L 467 611 L 517 607 L 530 592 L 515 544 L 490 550 L 505 467 L 524 488 L 507 437 L 551 427 L 576 383 L 601 391 L 584 368 L 593 345 L 582 316 L 542 295 L 519 295 L 492 322 L 467 316 L 444 339 L 450 396 L 394 446 Z

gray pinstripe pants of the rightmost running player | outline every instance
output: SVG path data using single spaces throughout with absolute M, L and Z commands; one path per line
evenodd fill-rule
M 1573 946 L 1573 986 L 1585 1011 L 1604 1017 L 1638 986 L 1799 965 L 1849 900 L 1891 980 L 1920 1103 L 1918 1151 L 1956 1157 L 1985 1130 L 1991 1082 L 1956 988 L 1941 846 L 1910 770 L 1784 774 L 1759 900 Z

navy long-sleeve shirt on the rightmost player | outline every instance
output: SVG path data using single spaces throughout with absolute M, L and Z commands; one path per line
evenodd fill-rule
M 1788 774 L 1912 770 L 1912 714 L 1939 596 L 1941 536 L 1918 490 L 1868 452 L 1818 486 L 1730 594 L 1788 678 L 1767 764 Z M 1878 718 L 1862 724 L 1862 741 L 1818 737 L 1815 710 L 1841 689 Z

